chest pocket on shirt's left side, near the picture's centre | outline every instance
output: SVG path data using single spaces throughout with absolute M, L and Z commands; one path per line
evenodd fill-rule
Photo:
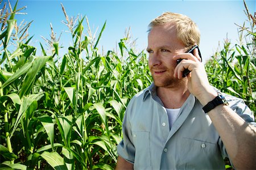
M 150 133 L 149 131 L 133 131 L 135 160 L 134 169 L 150 169 Z

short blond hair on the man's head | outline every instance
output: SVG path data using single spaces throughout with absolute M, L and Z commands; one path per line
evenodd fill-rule
M 157 25 L 166 23 L 175 23 L 177 29 L 177 39 L 179 39 L 186 48 L 191 48 L 193 45 L 200 43 L 200 31 L 196 23 L 188 16 L 173 12 L 164 12 L 148 25 L 148 32 Z

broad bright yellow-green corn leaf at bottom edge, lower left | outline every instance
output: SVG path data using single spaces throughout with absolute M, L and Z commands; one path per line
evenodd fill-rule
M 65 165 L 64 159 L 57 152 L 44 151 L 41 156 L 46 162 L 51 165 L 53 169 L 64 170 L 68 169 Z

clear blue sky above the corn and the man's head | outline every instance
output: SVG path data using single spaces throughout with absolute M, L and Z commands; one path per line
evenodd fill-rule
M 5 2 L 7 0 L 3 0 Z M 137 49 L 142 50 L 147 46 L 147 25 L 156 16 L 165 11 L 178 12 L 194 20 L 201 31 L 200 50 L 203 60 L 209 58 L 216 51 L 219 42 L 228 39 L 233 44 L 238 41 L 238 27 L 246 20 L 243 10 L 243 1 L 25 1 L 19 0 L 18 7 L 27 6 L 22 12 L 27 15 L 16 15 L 18 23 L 24 19 L 27 22 L 34 20 L 29 33 L 34 35 L 31 45 L 39 46 L 39 41 L 46 46 L 40 37 L 50 38 L 49 23 L 59 37 L 63 31 L 60 44 L 68 46 L 71 35 L 68 28 L 61 23 L 65 16 L 60 3 L 63 3 L 68 16 L 87 16 L 92 31 L 98 33 L 106 20 L 106 28 L 100 40 L 105 52 L 113 50 L 125 35 L 125 29 L 131 27 L 133 39 L 137 39 Z M 249 11 L 254 14 L 255 0 L 246 1 Z M 14 6 L 15 1 L 11 1 Z M 84 22 L 86 29 L 86 22 Z M 99 47 L 100 47 L 99 46 Z M 38 49 L 40 51 L 40 49 Z M 67 48 L 65 48 L 67 50 Z M 65 53 L 65 52 L 64 52 Z

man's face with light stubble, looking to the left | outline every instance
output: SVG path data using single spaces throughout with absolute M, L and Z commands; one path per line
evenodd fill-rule
M 167 23 L 153 27 L 148 34 L 148 66 L 157 87 L 178 87 L 184 79 L 174 78 L 176 54 L 184 53 L 185 46 L 177 39 L 175 24 Z

